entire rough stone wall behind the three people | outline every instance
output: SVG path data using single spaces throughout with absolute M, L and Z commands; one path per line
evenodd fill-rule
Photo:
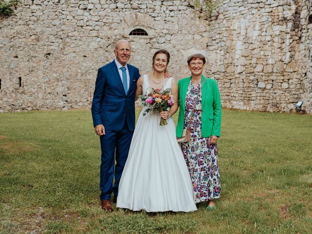
M 0 112 L 89 108 L 98 67 L 126 38 L 141 74 L 162 48 L 187 77 L 202 52 L 224 107 L 292 112 L 302 100 L 312 113 L 311 0 L 219 2 L 207 20 L 183 0 L 21 0 L 0 18 Z M 137 28 L 148 36 L 129 36 Z

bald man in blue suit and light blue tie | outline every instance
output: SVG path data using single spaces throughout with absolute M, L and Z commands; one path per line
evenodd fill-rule
M 112 192 L 113 201 L 117 200 L 119 180 L 135 129 L 135 93 L 140 77 L 139 70 L 127 63 L 131 54 L 127 40 L 117 42 L 114 54 L 116 59 L 98 69 L 91 107 L 95 132 L 100 136 L 99 198 L 105 211 L 113 211 L 110 202 Z

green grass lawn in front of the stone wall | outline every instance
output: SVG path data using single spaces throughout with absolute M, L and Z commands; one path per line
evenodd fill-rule
M 312 116 L 222 114 L 217 210 L 154 216 L 100 209 L 91 111 L 0 114 L 0 234 L 312 233 Z

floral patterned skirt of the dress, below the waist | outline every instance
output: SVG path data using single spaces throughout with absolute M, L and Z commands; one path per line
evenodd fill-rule
M 191 114 L 186 110 L 184 128 L 188 127 Z M 210 144 L 210 137 L 202 137 L 201 111 L 194 111 L 190 130 L 191 141 L 181 143 L 181 148 L 193 182 L 195 203 L 219 198 L 217 145 Z

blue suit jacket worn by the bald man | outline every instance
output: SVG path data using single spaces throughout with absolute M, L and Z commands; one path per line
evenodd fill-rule
M 94 127 L 103 124 L 107 130 L 120 131 L 127 121 L 130 130 L 135 129 L 135 95 L 140 74 L 136 67 L 127 66 L 130 76 L 127 94 L 115 61 L 98 69 L 91 107 Z

